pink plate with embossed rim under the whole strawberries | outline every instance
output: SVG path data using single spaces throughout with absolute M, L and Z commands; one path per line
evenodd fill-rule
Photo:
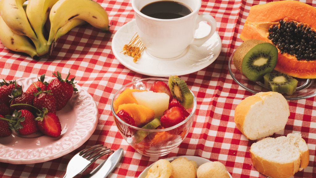
M 52 77 L 45 77 L 49 82 Z M 23 91 L 37 77 L 17 79 Z M 33 164 L 46 162 L 64 156 L 85 143 L 98 124 L 98 109 L 92 96 L 79 85 L 67 105 L 57 116 L 62 126 L 61 136 L 49 137 L 36 132 L 29 136 L 19 136 L 15 132 L 0 139 L 0 162 L 12 164 Z

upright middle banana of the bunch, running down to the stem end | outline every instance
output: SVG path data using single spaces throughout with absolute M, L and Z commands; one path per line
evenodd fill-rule
M 39 48 L 36 48 L 39 55 L 48 53 L 49 46 L 47 46 L 43 30 L 49 12 L 57 1 L 58 0 L 30 0 L 27 3 L 27 18 L 41 44 Z

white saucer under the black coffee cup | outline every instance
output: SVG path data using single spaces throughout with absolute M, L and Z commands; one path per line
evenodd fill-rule
M 202 38 L 210 32 L 210 25 L 200 22 L 195 38 Z M 113 36 L 112 51 L 115 57 L 125 67 L 144 75 L 155 77 L 169 77 L 170 75 L 185 75 L 199 71 L 209 66 L 221 52 L 222 41 L 215 34 L 201 47 L 189 45 L 187 52 L 179 58 L 164 60 L 147 53 L 146 48 L 136 63 L 133 57 L 123 54 L 123 47 L 128 44 L 136 33 L 136 21 L 123 25 Z M 122 52 L 122 53 L 121 53 Z

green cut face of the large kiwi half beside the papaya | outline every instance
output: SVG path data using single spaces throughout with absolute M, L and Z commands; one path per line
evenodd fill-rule
M 260 43 L 251 48 L 244 56 L 241 64 L 242 73 L 252 81 L 260 81 L 276 66 L 278 51 L 270 43 Z

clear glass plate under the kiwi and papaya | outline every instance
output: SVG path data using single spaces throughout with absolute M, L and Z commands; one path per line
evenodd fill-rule
M 235 52 L 234 52 L 235 53 Z M 249 92 L 254 94 L 258 92 L 269 92 L 269 88 L 264 86 L 263 81 L 253 82 L 248 80 L 245 76 L 241 75 L 239 71 L 234 66 L 233 56 L 234 53 L 230 56 L 228 61 L 228 70 L 232 78 L 235 80 L 238 85 L 243 87 Z M 306 99 L 316 96 L 316 83 L 315 79 L 298 79 L 298 84 L 296 91 L 292 95 L 283 94 L 287 100 L 296 100 L 296 99 Z

